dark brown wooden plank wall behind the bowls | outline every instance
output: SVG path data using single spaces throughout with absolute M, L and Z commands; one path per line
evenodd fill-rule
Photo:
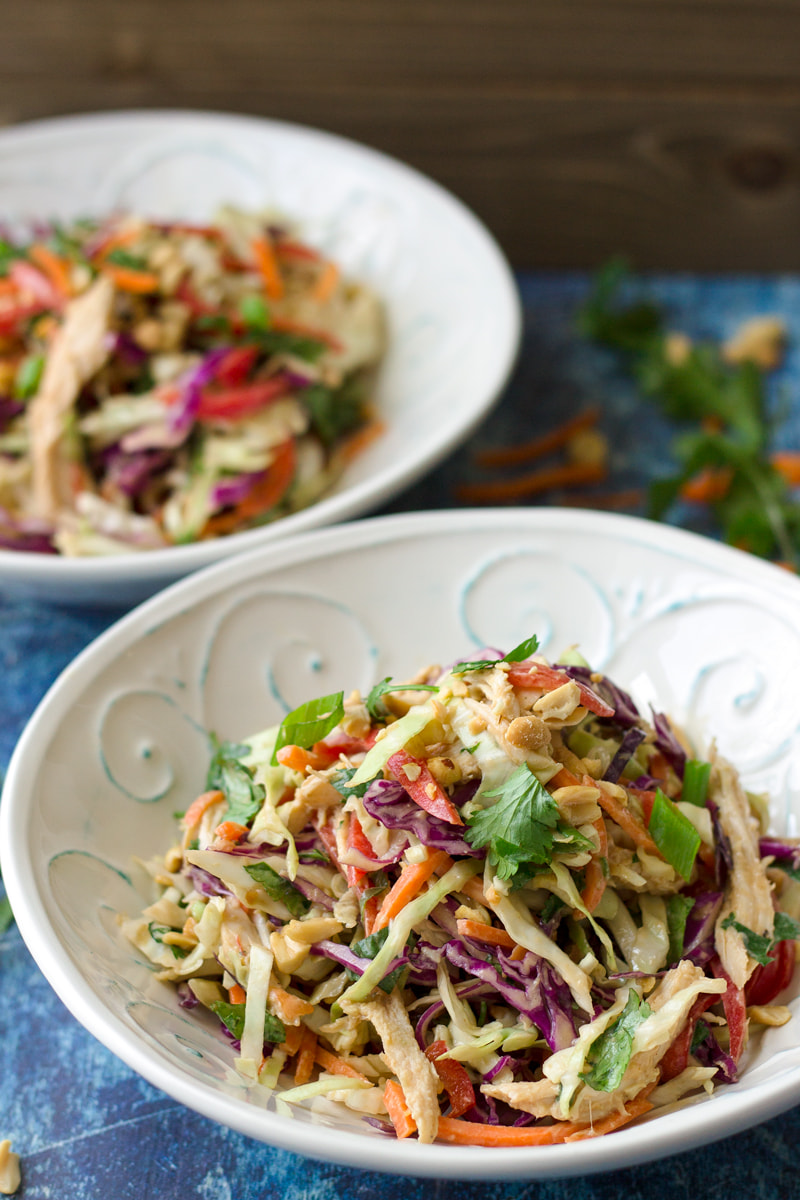
M 470 204 L 521 268 L 800 269 L 798 0 L 1 0 L 0 120 L 315 125 Z

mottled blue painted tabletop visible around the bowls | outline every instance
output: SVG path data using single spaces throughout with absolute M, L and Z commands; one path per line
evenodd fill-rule
M 610 486 L 646 485 L 663 469 L 670 427 L 642 404 L 612 356 L 575 335 L 585 277 L 530 274 L 519 286 L 524 344 L 500 403 L 384 511 L 455 506 L 459 484 L 485 478 L 474 463 L 480 446 L 530 438 L 594 403 L 612 444 Z M 787 416 L 776 444 L 800 448 L 800 280 L 657 277 L 650 287 L 674 328 L 696 337 L 726 337 L 754 313 L 786 318 L 792 344 L 772 397 Z M 676 520 L 692 526 L 696 517 L 686 510 Z M 49 684 L 115 616 L 0 594 L 0 767 Z M 578 1180 L 465 1184 L 330 1166 L 251 1141 L 144 1082 L 67 1013 L 11 928 L 0 936 L 2 1138 L 22 1154 L 24 1200 L 782 1200 L 798 1194 L 800 1108 L 708 1150 Z

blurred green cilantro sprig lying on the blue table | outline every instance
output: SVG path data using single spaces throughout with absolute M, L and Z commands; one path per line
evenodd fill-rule
M 709 506 L 724 540 L 796 569 L 800 504 L 770 461 L 774 422 L 762 371 L 750 361 L 726 362 L 715 344 L 670 353 L 662 311 L 648 299 L 628 299 L 628 284 L 626 265 L 609 263 L 581 310 L 578 328 L 616 350 L 644 396 L 684 422 L 672 446 L 678 469 L 651 485 L 649 515 L 663 518 L 690 480 L 716 473 L 723 484 Z

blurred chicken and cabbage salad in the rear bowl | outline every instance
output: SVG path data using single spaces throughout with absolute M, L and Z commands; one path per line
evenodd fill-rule
M 0 239 L 0 547 L 155 550 L 307 506 L 380 432 L 384 326 L 281 218 Z

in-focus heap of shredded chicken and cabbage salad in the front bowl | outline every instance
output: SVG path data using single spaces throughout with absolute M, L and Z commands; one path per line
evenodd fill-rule
M 735 1082 L 790 1015 L 800 847 L 714 748 L 535 637 L 212 739 L 149 869 L 125 934 L 283 1112 L 576 1141 Z

